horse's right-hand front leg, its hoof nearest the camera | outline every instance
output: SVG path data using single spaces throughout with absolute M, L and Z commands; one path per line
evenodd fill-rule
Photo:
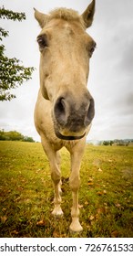
M 69 185 L 72 190 L 73 205 L 71 209 L 72 223 L 69 227 L 71 231 L 80 232 L 83 230 L 79 222 L 79 208 L 78 208 L 78 189 L 80 186 L 79 170 L 81 165 L 81 159 L 83 151 L 81 149 L 75 150 L 71 153 L 71 175 L 69 178 Z

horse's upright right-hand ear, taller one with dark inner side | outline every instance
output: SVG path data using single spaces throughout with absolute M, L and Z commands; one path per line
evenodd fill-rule
M 92 25 L 94 13 L 95 13 L 95 0 L 93 0 L 91 4 L 87 6 L 86 11 L 82 14 L 82 18 L 85 22 L 86 27 L 90 27 Z

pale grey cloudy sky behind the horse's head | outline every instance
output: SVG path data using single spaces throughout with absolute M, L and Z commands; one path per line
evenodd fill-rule
M 88 139 L 133 138 L 133 1 L 97 0 L 93 26 L 87 29 L 97 42 L 90 62 L 88 88 L 96 103 L 96 116 Z M 39 88 L 39 51 L 36 36 L 40 28 L 33 7 L 48 13 L 66 6 L 80 14 L 89 0 L 1 0 L 6 9 L 26 13 L 26 21 L 4 20 L 9 31 L 4 40 L 6 55 L 21 59 L 25 67 L 36 68 L 29 80 L 15 90 L 16 99 L 0 102 L 0 128 L 16 130 L 39 140 L 34 127 L 34 107 Z

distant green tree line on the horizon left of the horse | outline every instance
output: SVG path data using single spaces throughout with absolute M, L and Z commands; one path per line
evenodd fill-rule
M 35 142 L 32 137 L 24 136 L 16 131 L 5 132 L 4 130 L 0 130 L 0 141 Z

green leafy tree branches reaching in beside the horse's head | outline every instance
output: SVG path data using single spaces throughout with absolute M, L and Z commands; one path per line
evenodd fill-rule
M 26 19 L 25 13 L 16 13 L 0 8 L 0 18 L 22 21 Z M 8 36 L 8 31 L 0 28 L 0 40 Z M 20 65 L 20 60 L 16 58 L 9 59 L 5 56 L 5 46 L 0 46 L 0 101 L 11 101 L 15 95 L 11 93 L 12 89 L 17 88 L 24 81 L 31 79 L 33 67 L 25 68 Z

